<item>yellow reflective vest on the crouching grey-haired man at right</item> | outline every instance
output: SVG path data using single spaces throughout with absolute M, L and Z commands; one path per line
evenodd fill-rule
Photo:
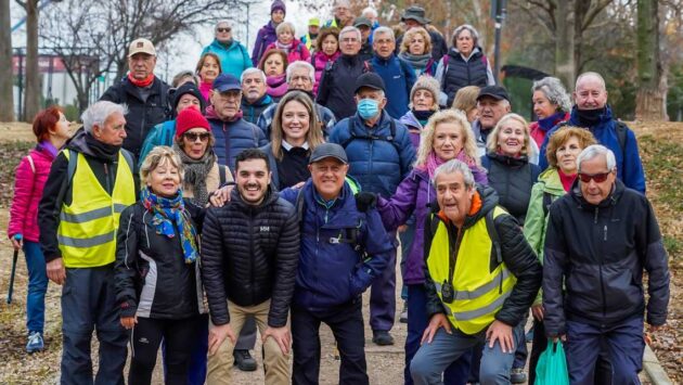
M 504 213 L 495 207 L 493 218 Z M 453 301 L 442 301 L 450 322 L 465 334 L 476 334 L 493 322 L 517 281 L 504 262 L 491 271 L 492 248 L 486 218 L 481 217 L 463 234 L 453 271 Z M 449 281 L 450 252 L 448 229 L 439 221 L 427 257 L 439 299 L 442 284 Z

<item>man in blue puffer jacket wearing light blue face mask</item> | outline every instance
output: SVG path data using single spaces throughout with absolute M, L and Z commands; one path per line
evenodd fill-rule
M 377 74 L 366 73 L 357 79 L 355 98 L 358 113 L 335 126 L 330 142 L 346 150 L 349 174 L 363 190 L 389 197 L 410 172 L 415 150 L 405 126 L 384 111 L 385 86 Z M 396 240 L 396 234 L 391 235 Z M 396 316 L 395 264 L 396 251 L 388 268 L 373 284 L 370 297 L 370 325 L 377 345 L 394 344 L 389 331 Z

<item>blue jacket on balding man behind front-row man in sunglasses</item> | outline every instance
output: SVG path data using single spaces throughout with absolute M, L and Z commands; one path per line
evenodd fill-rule
M 619 178 L 627 188 L 633 189 L 645 194 L 645 171 L 643 170 L 643 163 L 641 162 L 641 155 L 637 152 L 637 140 L 635 133 L 629 128 L 626 137 L 626 151 L 621 151 L 621 144 L 619 144 L 619 138 L 617 134 L 617 120 L 611 115 L 611 107 L 605 105 L 605 113 L 601 115 L 600 123 L 588 127 L 587 124 L 581 123 L 577 114 L 577 106 L 571 108 L 571 116 L 567 120 L 568 126 L 583 127 L 591 131 L 595 137 L 595 140 L 607 149 L 615 153 L 617 161 L 617 178 Z M 550 137 L 559 129 L 560 126 L 556 126 L 545 134 L 545 140 L 541 146 L 541 154 L 539 156 L 539 167 L 544 170 L 547 167 L 547 159 L 545 158 L 545 149 L 547 147 L 547 141 Z M 626 153 L 624 153 L 626 152 Z

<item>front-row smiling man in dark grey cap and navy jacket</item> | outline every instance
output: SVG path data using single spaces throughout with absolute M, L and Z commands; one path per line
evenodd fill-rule
M 313 150 L 311 179 L 281 197 L 295 204 L 301 243 L 292 304 L 294 384 L 318 384 L 320 323 L 333 331 L 342 364 L 340 384 L 369 384 L 362 294 L 383 274 L 395 247 L 374 207 L 374 196 L 353 195 L 344 149 L 323 143 Z

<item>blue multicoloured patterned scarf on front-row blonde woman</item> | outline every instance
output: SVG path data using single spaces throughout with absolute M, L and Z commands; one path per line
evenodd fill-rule
M 185 217 L 185 205 L 182 201 L 182 190 L 178 190 L 175 197 L 162 197 L 150 191 L 149 188 L 142 190 L 142 205 L 152 213 L 152 224 L 156 228 L 156 233 L 168 238 L 176 236 L 173 223 L 180 233 L 180 245 L 185 264 L 192 264 L 197 259 L 197 232 Z

